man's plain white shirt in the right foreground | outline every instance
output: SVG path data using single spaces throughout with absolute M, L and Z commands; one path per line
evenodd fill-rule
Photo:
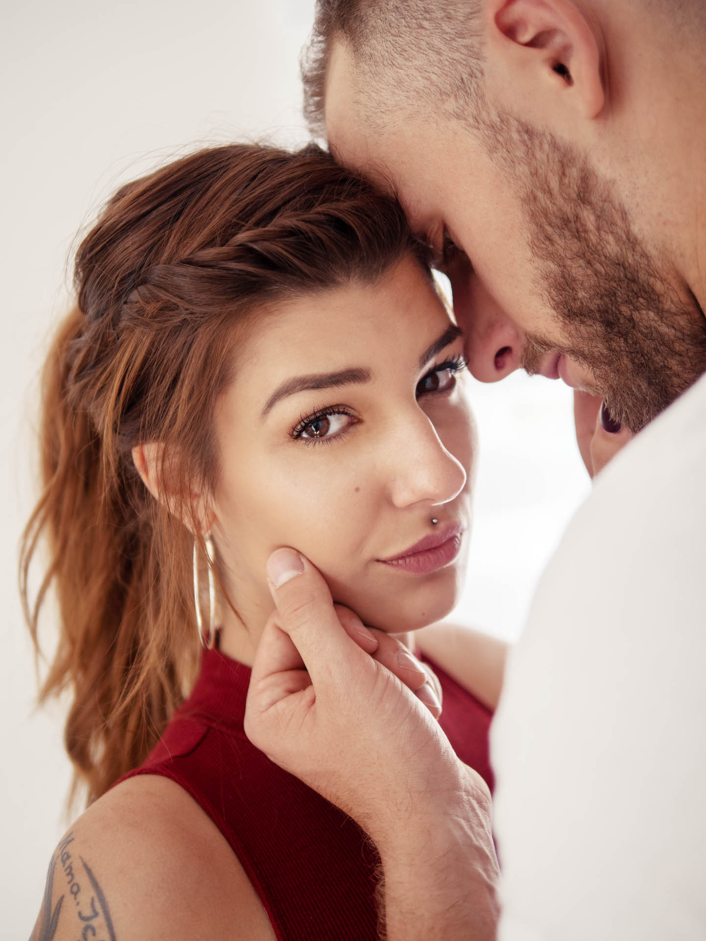
M 596 481 L 491 731 L 500 941 L 706 938 L 706 377 Z

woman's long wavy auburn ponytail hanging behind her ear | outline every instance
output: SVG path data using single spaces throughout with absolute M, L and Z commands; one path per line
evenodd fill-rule
M 183 632 L 174 630 L 179 623 L 190 626 L 190 612 L 184 610 L 188 599 L 181 591 L 170 606 L 176 625 L 161 644 L 154 643 L 160 632 L 151 628 L 165 614 L 154 610 L 155 594 L 163 595 L 168 585 L 165 573 L 154 566 L 150 495 L 127 462 L 117 481 L 106 480 L 104 446 L 93 416 L 72 403 L 73 351 L 85 320 L 78 308 L 71 311 L 44 366 L 43 491 L 24 530 L 20 582 L 38 654 L 40 609 L 56 586 L 61 631 L 39 698 L 41 703 L 67 687 L 72 690 L 65 726 L 74 767 L 70 800 L 84 782 L 90 802 L 147 757 L 193 678 L 197 646 L 195 633 L 189 644 Z M 187 538 L 185 528 L 171 522 L 167 537 Z M 48 544 L 48 565 L 31 599 L 29 569 L 41 534 Z

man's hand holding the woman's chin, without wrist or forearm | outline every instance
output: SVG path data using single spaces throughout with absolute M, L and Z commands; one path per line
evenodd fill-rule
M 269 758 L 383 837 L 393 807 L 410 810 L 432 781 L 439 779 L 435 789 L 453 788 L 461 774 L 435 721 L 437 694 L 405 646 L 334 607 L 324 579 L 297 552 L 275 552 L 268 576 L 278 608 L 253 663 L 246 732 Z

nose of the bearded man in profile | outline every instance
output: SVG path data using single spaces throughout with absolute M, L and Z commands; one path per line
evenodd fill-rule
M 524 339 L 483 282 L 469 270 L 449 272 L 468 368 L 480 382 L 497 382 L 521 367 Z

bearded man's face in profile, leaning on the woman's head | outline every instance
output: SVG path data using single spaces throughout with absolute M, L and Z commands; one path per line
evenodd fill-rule
M 423 109 L 381 130 L 367 115 L 336 46 L 331 150 L 392 186 L 438 253 L 476 378 L 560 377 L 637 431 L 706 371 L 698 305 L 586 158 L 489 105 L 477 131 Z

